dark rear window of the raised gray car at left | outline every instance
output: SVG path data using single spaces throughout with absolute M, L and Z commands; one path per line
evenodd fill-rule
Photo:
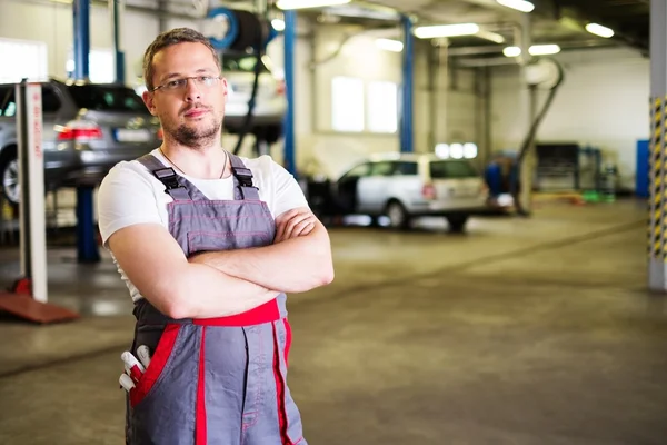
M 96 111 L 148 112 L 135 90 L 108 85 L 71 85 L 69 91 L 79 108 Z

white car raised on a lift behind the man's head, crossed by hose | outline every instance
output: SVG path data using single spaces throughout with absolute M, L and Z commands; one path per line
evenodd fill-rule
M 223 53 L 220 58 L 222 75 L 229 87 L 225 106 L 225 129 L 230 134 L 238 134 L 241 132 L 248 113 L 257 58 L 253 55 L 235 52 Z M 276 142 L 282 136 L 286 111 L 285 81 L 276 76 L 270 59 L 265 55 L 259 63 L 258 88 L 249 132 L 269 144 Z

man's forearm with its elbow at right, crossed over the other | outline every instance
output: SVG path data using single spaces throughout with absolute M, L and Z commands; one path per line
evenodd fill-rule
M 319 222 L 303 237 L 265 247 L 206 253 L 199 261 L 285 293 L 307 291 L 334 279 L 329 236 Z

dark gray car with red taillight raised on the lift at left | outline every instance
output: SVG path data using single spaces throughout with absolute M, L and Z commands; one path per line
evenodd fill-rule
M 44 185 L 97 185 L 121 160 L 161 142 L 160 122 L 141 98 L 120 85 L 42 82 Z M 0 85 L 0 179 L 6 198 L 20 197 L 14 85 Z

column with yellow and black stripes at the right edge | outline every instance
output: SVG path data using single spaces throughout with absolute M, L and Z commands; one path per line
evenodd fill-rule
M 650 2 L 648 285 L 667 290 L 667 0 Z

